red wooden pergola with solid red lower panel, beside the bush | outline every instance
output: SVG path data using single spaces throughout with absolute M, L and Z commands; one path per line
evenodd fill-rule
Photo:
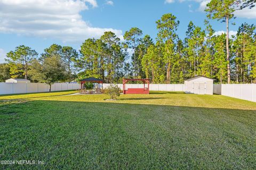
M 141 81 L 144 84 L 144 88 L 125 88 L 125 84 L 129 81 Z M 145 87 L 145 84 L 148 87 Z M 149 94 L 149 79 L 123 79 L 123 94 Z

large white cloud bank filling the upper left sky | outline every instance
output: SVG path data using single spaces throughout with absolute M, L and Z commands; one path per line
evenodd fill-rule
M 118 37 L 121 30 L 92 27 L 81 11 L 97 7 L 96 0 L 0 0 L 0 33 L 56 38 L 63 42 L 98 38 L 105 31 Z

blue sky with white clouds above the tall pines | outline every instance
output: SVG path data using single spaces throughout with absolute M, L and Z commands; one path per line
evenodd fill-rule
M 53 43 L 77 50 L 86 38 L 99 38 L 104 31 L 122 35 L 131 27 L 155 39 L 155 21 L 165 13 L 180 21 L 178 35 L 185 37 L 189 21 L 204 27 L 203 11 L 209 0 L 0 0 L 0 63 L 16 46 L 27 45 L 39 54 Z M 243 22 L 256 23 L 256 7 L 236 12 L 235 34 Z M 220 34 L 225 23 L 210 20 Z

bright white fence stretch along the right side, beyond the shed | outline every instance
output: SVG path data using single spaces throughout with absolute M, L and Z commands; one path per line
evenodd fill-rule
M 221 95 L 256 102 L 256 84 L 222 84 Z

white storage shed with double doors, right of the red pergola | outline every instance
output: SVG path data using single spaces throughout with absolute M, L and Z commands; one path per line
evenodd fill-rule
M 196 76 L 185 81 L 186 93 L 213 94 L 214 79 L 204 76 Z

